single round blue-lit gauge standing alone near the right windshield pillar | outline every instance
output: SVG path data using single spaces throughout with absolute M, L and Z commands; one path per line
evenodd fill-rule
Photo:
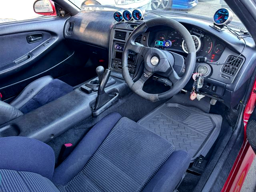
M 216 25 L 227 25 L 232 21 L 233 18 L 233 13 L 226 9 L 226 8 L 221 8 L 217 10 L 213 16 L 213 22 Z

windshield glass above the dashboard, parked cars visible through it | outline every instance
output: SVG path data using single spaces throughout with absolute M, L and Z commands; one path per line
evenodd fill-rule
M 224 0 L 70 0 L 70 2 L 80 9 L 88 9 L 92 5 L 116 6 L 122 9 L 143 7 L 145 10 L 183 12 L 209 19 L 212 19 L 216 10 L 220 8 L 230 9 Z M 233 24 L 241 26 L 241 21 L 235 14 Z

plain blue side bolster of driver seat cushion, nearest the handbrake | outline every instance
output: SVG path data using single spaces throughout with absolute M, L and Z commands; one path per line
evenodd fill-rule
M 84 168 L 90 157 L 121 117 L 118 113 L 111 113 L 100 120 L 84 136 L 64 162 L 54 170 L 52 177 L 54 184 L 65 185 L 72 180 Z

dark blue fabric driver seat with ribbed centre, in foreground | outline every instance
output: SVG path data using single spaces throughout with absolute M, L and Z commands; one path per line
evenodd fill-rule
M 190 163 L 185 151 L 112 113 L 98 122 L 54 170 L 50 146 L 0 138 L 3 192 L 172 192 Z

